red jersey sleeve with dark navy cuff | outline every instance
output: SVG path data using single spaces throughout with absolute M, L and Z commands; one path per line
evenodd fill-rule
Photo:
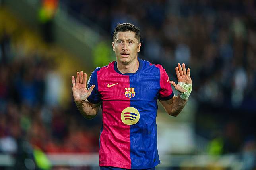
M 160 69 L 160 90 L 159 90 L 159 100 L 169 100 L 173 98 L 174 93 L 169 83 L 169 77 L 165 71 L 165 69 L 161 65 L 157 65 Z

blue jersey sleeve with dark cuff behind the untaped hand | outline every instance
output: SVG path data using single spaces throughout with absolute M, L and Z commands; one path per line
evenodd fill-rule
M 87 81 L 87 89 L 89 90 L 91 88 L 92 85 L 95 85 L 95 88 L 93 88 L 93 91 L 91 92 L 91 95 L 87 98 L 87 100 L 90 103 L 93 104 L 97 104 L 99 102 L 101 102 L 101 94 L 98 91 L 98 79 L 97 79 L 97 71 L 100 68 L 97 67 L 92 73 L 91 76 L 89 78 L 89 80 Z

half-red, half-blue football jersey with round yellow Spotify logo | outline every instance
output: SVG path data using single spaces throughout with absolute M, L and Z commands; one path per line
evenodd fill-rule
M 99 166 L 128 169 L 152 168 L 160 163 L 157 151 L 157 99 L 174 94 L 165 69 L 139 59 L 136 73 L 122 74 L 116 61 L 96 68 L 88 101 L 100 103 L 102 127 Z

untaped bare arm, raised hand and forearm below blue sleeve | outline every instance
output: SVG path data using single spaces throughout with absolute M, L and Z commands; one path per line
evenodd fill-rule
M 90 103 L 87 98 L 90 96 L 91 92 L 95 85 L 91 86 L 89 90 L 86 88 L 87 82 L 87 74 L 81 71 L 80 73 L 76 73 L 76 82 L 75 77 L 72 76 L 72 91 L 74 101 L 76 106 L 78 107 L 79 112 L 83 115 L 83 117 L 87 119 L 93 119 L 96 117 L 99 111 L 100 103 L 93 104 Z

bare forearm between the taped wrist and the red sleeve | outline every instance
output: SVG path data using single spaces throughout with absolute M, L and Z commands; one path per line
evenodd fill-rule
M 180 95 L 173 97 L 173 103 L 171 104 L 170 111 L 168 112 L 171 116 L 177 116 L 182 109 L 185 107 L 188 99 L 180 98 Z

